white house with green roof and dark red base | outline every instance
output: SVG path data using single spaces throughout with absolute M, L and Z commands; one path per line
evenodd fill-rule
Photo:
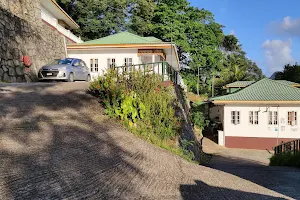
M 211 99 L 220 145 L 272 149 L 300 138 L 300 88 L 289 81 L 262 79 L 232 94 Z

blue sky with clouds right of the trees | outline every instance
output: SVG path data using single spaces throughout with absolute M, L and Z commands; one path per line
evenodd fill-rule
M 211 11 L 268 77 L 300 62 L 300 0 L 189 0 Z

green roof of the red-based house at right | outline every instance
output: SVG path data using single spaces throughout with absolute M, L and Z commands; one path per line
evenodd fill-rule
M 300 101 L 300 89 L 268 78 L 236 93 L 211 98 L 212 101 Z

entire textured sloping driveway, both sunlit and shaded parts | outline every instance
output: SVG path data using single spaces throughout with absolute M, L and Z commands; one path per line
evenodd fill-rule
M 0 199 L 300 199 L 299 170 L 188 163 L 104 116 L 87 86 L 0 84 Z

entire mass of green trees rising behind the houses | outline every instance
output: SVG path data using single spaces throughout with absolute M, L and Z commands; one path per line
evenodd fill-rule
M 220 87 L 235 80 L 259 80 L 262 71 L 246 57 L 238 39 L 225 35 L 213 14 L 187 0 L 57 0 L 78 22 L 83 39 L 120 31 L 174 42 L 189 88 L 211 92 L 212 75 Z M 200 74 L 198 76 L 198 73 Z

